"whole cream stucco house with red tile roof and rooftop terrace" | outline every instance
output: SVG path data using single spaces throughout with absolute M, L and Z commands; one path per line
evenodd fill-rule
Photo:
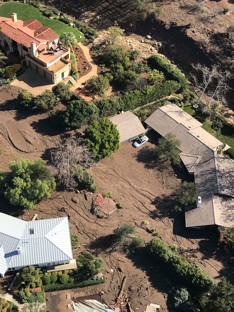
M 0 50 L 5 56 L 12 52 L 21 56 L 22 62 L 54 84 L 70 75 L 70 48 L 36 19 L 23 22 L 16 13 L 0 17 Z

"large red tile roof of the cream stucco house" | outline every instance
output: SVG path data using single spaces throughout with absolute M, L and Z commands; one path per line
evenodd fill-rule
M 49 27 L 44 27 L 36 19 L 29 19 L 26 22 L 11 18 L 0 17 L 1 32 L 17 43 L 30 47 L 30 42 L 35 41 L 36 47 L 43 42 L 56 40 L 59 36 Z

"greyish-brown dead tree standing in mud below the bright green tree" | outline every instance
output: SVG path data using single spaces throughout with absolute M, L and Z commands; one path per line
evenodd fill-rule
M 51 151 L 52 168 L 66 190 L 75 190 L 82 180 L 84 170 L 93 166 L 93 153 L 89 152 L 82 138 L 72 136 Z

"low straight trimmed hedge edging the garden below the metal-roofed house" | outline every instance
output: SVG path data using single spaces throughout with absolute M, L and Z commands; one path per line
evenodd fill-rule
M 83 282 L 76 282 L 73 283 L 65 283 L 65 284 L 49 284 L 44 285 L 41 287 L 44 291 L 53 291 L 53 290 L 64 290 L 64 289 L 71 289 L 71 288 L 80 288 L 80 287 L 86 287 L 86 286 L 92 286 L 97 284 L 105 283 L 105 278 L 103 280 L 84 280 Z

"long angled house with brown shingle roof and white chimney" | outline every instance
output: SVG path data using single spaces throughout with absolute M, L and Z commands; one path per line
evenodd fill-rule
M 163 137 L 176 135 L 180 158 L 194 174 L 199 200 L 185 207 L 186 227 L 234 227 L 234 160 L 217 154 L 222 142 L 175 104 L 158 108 L 145 123 Z

